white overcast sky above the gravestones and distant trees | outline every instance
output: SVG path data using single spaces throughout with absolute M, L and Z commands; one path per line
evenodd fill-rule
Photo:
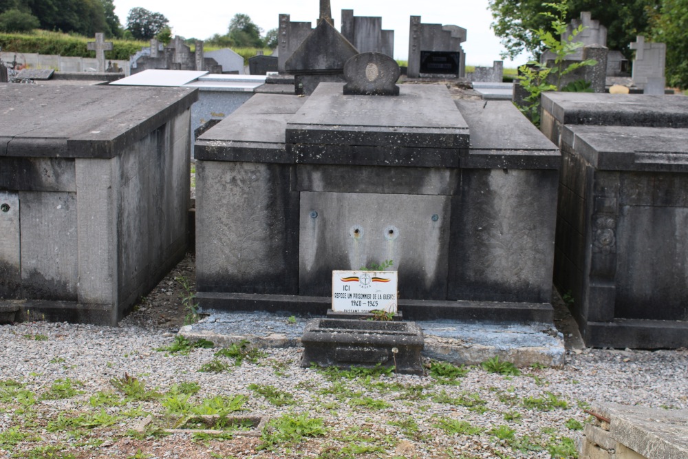
M 341 10 L 354 10 L 355 16 L 380 16 L 383 29 L 394 30 L 394 57 L 406 60 L 409 49 L 409 17 L 420 16 L 423 23 L 459 25 L 468 30 L 463 43 L 466 63 L 489 65 L 500 59 L 502 45 L 490 28 L 492 15 L 488 0 L 331 0 L 332 17 L 337 29 L 341 25 Z M 160 12 L 169 19 L 173 34 L 185 38 L 207 39 L 215 33 L 226 34 L 229 21 L 237 13 L 248 14 L 264 32 L 277 28 L 280 13 L 291 15 L 292 21 L 315 21 L 319 15 L 319 0 L 287 2 L 278 0 L 114 0 L 115 13 L 126 25 L 131 8 L 142 7 Z M 515 63 L 504 61 L 505 67 L 526 63 L 527 56 L 519 56 Z

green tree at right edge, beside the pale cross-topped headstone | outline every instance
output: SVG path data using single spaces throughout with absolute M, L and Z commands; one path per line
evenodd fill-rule
M 688 0 L 663 0 L 651 19 L 652 41 L 667 45 L 667 83 L 688 88 Z

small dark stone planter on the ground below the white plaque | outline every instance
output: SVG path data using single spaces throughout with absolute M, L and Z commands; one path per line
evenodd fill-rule
M 380 364 L 394 366 L 401 374 L 423 374 L 423 332 L 415 322 L 312 319 L 305 325 L 301 343 L 302 367 Z

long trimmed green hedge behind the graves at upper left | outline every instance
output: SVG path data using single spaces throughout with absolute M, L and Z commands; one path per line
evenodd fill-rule
M 6 52 L 35 52 L 38 54 L 59 54 L 60 56 L 95 57 L 96 52 L 87 50 L 86 43 L 95 39 L 58 34 L 0 34 L 0 47 Z M 128 61 L 148 43 L 143 41 L 112 41 L 112 51 L 105 52 L 105 58 Z

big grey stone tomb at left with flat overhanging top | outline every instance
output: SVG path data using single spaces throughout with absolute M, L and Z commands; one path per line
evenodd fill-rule
M 116 325 L 184 256 L 196 98 L 0 85 L 0 305 Z

